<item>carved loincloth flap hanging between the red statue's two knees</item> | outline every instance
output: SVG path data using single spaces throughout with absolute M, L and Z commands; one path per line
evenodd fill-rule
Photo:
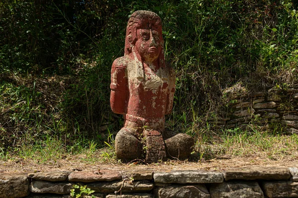
M 156 130 L 145 130 L 146 161 L 157 162 L 166 158 L 165 146 L 162 135 Z

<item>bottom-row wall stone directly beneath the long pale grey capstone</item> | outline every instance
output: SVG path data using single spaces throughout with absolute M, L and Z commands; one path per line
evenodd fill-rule
M 159 188 L 157 198 L 210 198 L 205 185 L 198 184 L 194 186 L 169 186 Z

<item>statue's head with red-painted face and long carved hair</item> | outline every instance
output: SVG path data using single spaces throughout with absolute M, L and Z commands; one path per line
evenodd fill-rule
M 164 66 L 161 19 L 154 12 L 139 10 L 129 18 L 126 28 L 125 55 L 137 53 L 142 61 L 159 60 Z

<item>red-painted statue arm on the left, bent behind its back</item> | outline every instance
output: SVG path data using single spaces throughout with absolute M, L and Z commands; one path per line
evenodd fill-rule
M 123 114 L 127 103 L 128 81 L 124 57 L 117 58 L 111 70 L 110 103 L 114 113 Z

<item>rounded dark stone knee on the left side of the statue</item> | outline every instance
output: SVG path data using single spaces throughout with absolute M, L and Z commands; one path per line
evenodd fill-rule
M 128 128 L 123 127 L 115 138 L 115 151 L 117 158 L 131 161 L 142 156 L 143 145 Z

